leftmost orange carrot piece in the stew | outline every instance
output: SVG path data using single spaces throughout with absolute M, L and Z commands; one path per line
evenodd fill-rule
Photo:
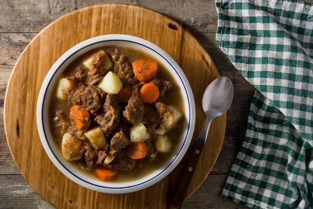
M 78 129 L 88 127 L 91 122 L 88 110 L 79 105 L 74 105 L 70 108 L 69 118 L 74 122 Z

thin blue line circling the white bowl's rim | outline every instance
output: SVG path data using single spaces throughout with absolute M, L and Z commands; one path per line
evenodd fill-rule
M 140 38 L 139 38 L 139 39 L 140 39 Z M 72 52 L 62 63 L 60 63 L 60 64 L 57 66 L 56 70 L 54 70 L 53 75 L 51 76 L 51 78 L 50 78 L 50 80 L 48 81 L 48 83 L 47 83 L 46 86 L 49 86 L 49 84 L 50 84 L 52 78 L 53 78 L 54 75 L 57 73 L 57 71 L 59 70 L 59 68 L 60 68 L 68 59 L 70 59 L 73 55 L 75 55 L 77 52 L 79 52 L 79 51 L 81 51 L 81 50 L 83 50 L 83 49 L 85 49 L 85 48 L 87 48 L 87 47 L 90 47 L 90 46 L 92 46 L 92 45 L 95 45 L 95 44 L 100 44 L 100 43 L 103 43 L 103 42 L 112 42 L 112 41 L 123 41 L 123 42 L 133 43 L 133 44 L 141 45 L 141 46 L 143 46 L 143 47 L 145 47 L 145 48 L 148 48 L 149 50 L 152 50 L 153 52 L 155 52 L 156 54 L 158 54 L 164 61 L 166 61 L 166 62 L 170 65 L 170 67 L 175 71 L 175 73 L 176 73 L 177 76 L 179 77 L 181 83 L 183 84 L 183 88 L 184 88 L 184 91 L 185 91 L 185 93 L 186 93 L 186 95 L 187 95 L 187 99 L 188 99 L 188 110 L 189 110 L 189 111 L 188 111 L 188 128 L 187 128 L 187 132 L 186 132 L 186 134 L 185 134 L 183 143 L 182 143 L 182 145 L 181 145 L 181 147 L 180 147 L 180 149 L 179 149 L 177 155 L 171 160 L 171 162 L 170 162 L 162 171 L 158 172 L 157 175 L 153 176 L 152 178 L 149 178 L 149 179 L 146 180 L 146 181 L 143 181 L 143 182 L 140 182 L 140 183 L 137 183 L 137 184 L 134 184 L 134 185 L 130 185 L 130 186 L 123 186 L 123 187 L 102 186 L 102 185 L 98 185 L 98 184 L 94 184 L 94 183 L 91 183 L 91 182 L 89 182 L 89 181 L 86 181 L 86 180 L 84 180 L 83 178 L 81 178 L 81 177 L 77 176 L 76 174 L 74 174 L 73 172 L 71 172 L 69 169 L 67 169 L 66 166 L 59 160 L 59 158 L 58 158 L 58 157 L 55 155 L 55 153 L 52 151 L 52 148 L 51 148 L 51 146 L 50 146 L 50 143 L 49 143 L 49 141 L 48 141 L 48 137 L 47 137 L 47 134 L 46 134 L 46 131 L 44 130 L 44 128 L 43 128 L 43 133 L 44 133 L 44 136 L 45 136 L 44 139 L 45 139 L 45 141 L 46 141 L 46 143 L 47 143 L 47 145 L 48 145 L 48 147 L 49 147 L 49 151 L 51 151 L 51 153 L 53 154 L 54 158 L 58 161 L 58 163 L 59 163 L 70 175 L 74 176 L 76 179 L 79 179 L 79 180 L 82 181 L 82 182 L 85 182 L 85 183 L 87 183 L 87 184 L 89 184 L 89 185 L 91 185 L 91 186 L 95 186 L 95 187 L 98 187 L 98 188 L 105 188 L 105 189 L 127 189 L 127 188 L 133 188 L 133 187 L 136 187 L 136 186 L 139 186 L 139 185 L 142 185 L 142 184 L 145 184 L 145 183 L 147 183 L 147 182 L 152 181 L 152 180 L 155 179 L 156 177 L 160 176 L 163 172 L 165 172 L 165 171 L 168 169 L 168 167 L 176 160 L 177 156 L 179 155 L 179 153 L 181 152 L 182 148 L 184 147 L 184 144 L 186 143 L 187 137 L 188 137 L 188 135 L 189 135 L 190 123 L 191 123 L 191 121 L 190 121 L 190 119 L 191 119 L 191 105 L 190 105 L 190 101 L 192 101 L 191 98 L 192 98 L 193 96 L 190 96 L 190 95 L 189 95 L 189 92 L 187 91 L 187 89 L 186 89 L 186 87 L 185 87 L 186 84 L 185 84 L 184 81 L 182 80 L 180 74 L 177 72 L 177 70 L 175 69 L 175 67 L 171 64 L 171 62 L 170 62 L 167 58 L 165 58 L 163 55 L 161 55 L 161 54 L 160 54 L 158 51 L 156 51 L 155 49 L 152 49 L 152 48 L 150 48 L 150 47 L 148 47 L 148 46 L 146 46 L 146 45 L 144 45 L 144 44 L 141 44 L 141 43 L 138 43 L 138 42 L 135 42 L 135 41 L 120 40 L 120 39 L 110 39 L 110 40 L 97 41 L 97 42 L 94 42 L 94 43 L 90 43 L 89 45 L 86 45 L 86 46 L 84 46 L 83 48 L 79 48 L 79 49 L 75 50 L 75 51 Z M 76 45 L 76 46 L 77 46 L 77 45 Z M 155 45 L 155 46 L 156 46 L 156 45 Z M 157 47 L 157 46 L 156 46 L 156 47 Z M 74 47 L 73 47 L 73 48 L 74 48 Z M 44 98 L 47 96 L 47 95 L 46 95 L 46 94 L 47 94 L 47 90 L 48 90 L 48 88 L 45 89 L 44 96 L 43 96 L 42 101 L 41 101 L 42 104 L 43 104 L 42 107 L 44 106 Z M 43 120 L 43 108 L 41 109 L 41 122 L 42 122 L 42 124 L 44 124 L 44 120 Z M 43 125 L 43 126 L 44 126 L 44 125 Z M 65 176 L 67 176 L 67 175 L 65 174 Z M 160 180 L 160 179 L 159 179 L 159 180 Z M 76 182 L 76 181 L 75 181 L 75 182 Z

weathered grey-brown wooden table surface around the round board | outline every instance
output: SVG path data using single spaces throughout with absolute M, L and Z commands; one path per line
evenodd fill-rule
M 217 13 L 213 0 L 190 1 L 1 1 L 0 13 L 0 208 L 54 208 L 24 180 L 12 160 L 3 127 L 6 85 L 21 52 L 43 28 L 74 10 L 95 4 L 125 3 L 157 11 L 173 19 L 203 45 L 219 74 L 234 85 L 234 99 L 227 112 L 226 132 L 219 157 L 202 185 L 183 208 L 246 208 L 221 198 L 233 160 L 243 140 L 254 88 L 247 83 L 215 43 Z

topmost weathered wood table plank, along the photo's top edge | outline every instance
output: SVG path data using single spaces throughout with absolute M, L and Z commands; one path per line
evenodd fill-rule
M 0 33 L 38 33 L 53 20 L 74 10 L 96 4 L 112 3 L 109 0 L 21 0 L 1 1 Z M 154 1 L 117 0 L 114 3 L 139 5 L 158 11 L 180 23 L 191 32 L 211 32 L 217 24 L 214 0 Z

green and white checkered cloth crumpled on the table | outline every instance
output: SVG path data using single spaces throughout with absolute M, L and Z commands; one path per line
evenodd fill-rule
M 222 196 L 251 208 L 313 208 L 313 5 L 215 1 L 216 43 L 256 89 Z

